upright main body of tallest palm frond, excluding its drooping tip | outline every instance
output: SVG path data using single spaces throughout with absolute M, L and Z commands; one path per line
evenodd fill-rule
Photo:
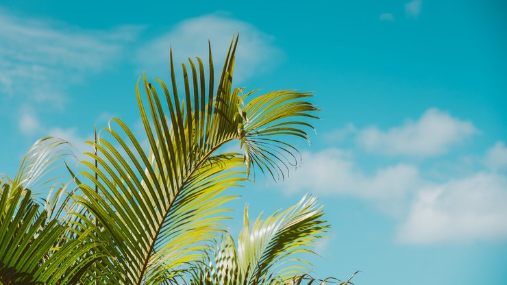
M 230 52 L 234 56 L 234 47 Z M 166 99 L 162 102 L 155 88 L 143 77 L 148 108 L 139 88 L 137 97 L 150 145 L 148 154 L 119 119 L 112 119 L 112 123 L 120 132 L 114 127 L 104 129 L 112 139 L 101 137 L 94 144 L 98 155 L 86 153 L 97 160 L 99 167 L 85 161 L 83 164 L 90 171 L 83 171 L 82 175 L 99 193 L 81 184 L 86 199 L 80 198 L 79 203 L 97 216 L 107 232 L 110 254 L 119 262 L 117 280 L 120 283 L 160 283 L 171 277 L 167 275 L 168 269 L 177 272 L 178 266 L 195 260 L 197 252 L 214 237 L 219 220 L 223 219 L 224 209 L 218 207 L 233 198 L 219 197 L 219 194 L 243 180 L 238 177 L 241 172 L 234 170 L 243 165 L 240 158 L 213 155 L 221 145 L 232 140 L 232 128 L 227 123 L 219 125 L 227 113 L 219 103 L 213 108 L 203 108 L 212 106 L 209 98 L 213 80 L 210 79 L 208 95 L 203 87 L 203 65 L 198 62 L 201 81 L 191 64 L 193 85 L 199 84 L 201 89 L 195 89 L 194 96 L 190 96 L 184 68 L 184 103 L 178 97 L 172 60 L 173 98 L 158 80 Z M 225 64 L 225 69 L 232 72 L 232 65 Z M 223 77 L 221 82 L 219 89 L 228 92 L 224 82 L 230 79 Z M 162 103 L 169 110 L 169 120 Z M 222 111 L 219 114 L 217 110 Z M 199 117 L 207 117 L 209 121 Z

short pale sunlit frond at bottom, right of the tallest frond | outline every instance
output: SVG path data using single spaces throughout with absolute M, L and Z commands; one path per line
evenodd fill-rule
M 248 207 L 245 207 L 238 247 L 230 235 L 225 234 L 215 248 L 214 260 L 197 266 L 190 284 L 290 284 L 295 276 L 308 272 L 308 264 L 293 256 L 311 253 L 308 247 L 327 232 L 329 225 L 321 220 L 322 216 L 317 199 L 304 197 L 295 206 L 276 212 L 266 220 L 258 216 L 250 227 Z M 277 269 L 281 264 L 286 266 Z

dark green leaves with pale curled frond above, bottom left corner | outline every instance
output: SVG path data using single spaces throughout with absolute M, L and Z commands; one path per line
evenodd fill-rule
M 53 178 L 47 173 L 66 153 L 62 140 L 44 138 L 27 153 L 14 179 L 0 178 L 0 284 L 73 284 L 95 260 L 88 232 L 73 232 L 65 186 L 49 195 L 43 210 L 32 199 L 30 188 L 40 188 Z M 42 181 L 41 181 L 42 180 Z

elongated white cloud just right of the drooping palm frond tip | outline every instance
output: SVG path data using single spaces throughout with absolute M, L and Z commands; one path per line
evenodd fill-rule
M 350 152 L 325 149 L 317 153 L 301 153 L 301 167 L 280 186 L 288 193 L 310 192 L 319 195 L 350 195 L 374 201 L 387 212 L 401 210 L 400 201 L 424 182 L 417 167 L 395 164 L 364 173 Z

